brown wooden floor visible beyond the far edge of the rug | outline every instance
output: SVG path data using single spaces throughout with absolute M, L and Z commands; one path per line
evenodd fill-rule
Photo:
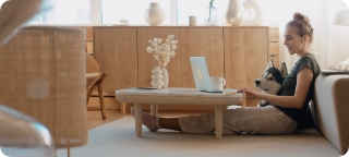
M 121 119 L 123 117 L 130 117 L 130 113 L 122 114 L 120 113 L 120 110 L 106 110 L 107 113 L 107 119 L 103 120 L 100 116 L 99 110 L 94 110 L 94 111 L 87 111 L 87 123 L 88 123 L 88 129 L 94 129 L 97 126 L 100 126 L 103 124 L 106 124 L 108 122 Z M 182 111 L 159 111 L 158 114 L 160 117 L 182 117 L 182 116 L 191 116 L 191 114 L 198 114 L 202 112 L 182 112 Z

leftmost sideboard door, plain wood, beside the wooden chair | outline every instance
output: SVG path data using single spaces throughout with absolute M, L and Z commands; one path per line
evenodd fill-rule
M 104 81 L 106 95 L 137 86 L 136 47 L 136 28 L 95 28 L 94 57 L 100 71 L 108 73 Z

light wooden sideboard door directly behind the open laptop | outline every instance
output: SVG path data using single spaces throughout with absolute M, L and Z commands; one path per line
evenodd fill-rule
M 224 76 L 222 28 L 180 28 L 182 87 L 195 87 L 190 57 L 205 57 L 209 75 Z

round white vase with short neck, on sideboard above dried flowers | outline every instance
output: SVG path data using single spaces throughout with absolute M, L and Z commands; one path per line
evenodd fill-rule
M 151 7 L 145 10 L 144 19 L 152 26 L 160 25 L 166 19 L 165 11 L 160 8 L 160 3 L 151 2 Z

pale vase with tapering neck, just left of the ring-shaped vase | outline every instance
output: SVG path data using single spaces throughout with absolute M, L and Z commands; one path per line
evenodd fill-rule
M 244 21 L 244 8 L 240 0 L 229 0 L 224 20 L 229 26 L 241 26 Z

